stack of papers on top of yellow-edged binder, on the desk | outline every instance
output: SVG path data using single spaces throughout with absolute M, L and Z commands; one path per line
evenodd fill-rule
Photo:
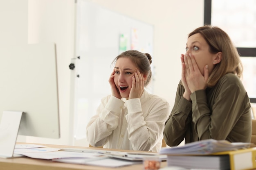
M 249 170 L 256 168 L 256 148 L 250 143 L 207 139 L 184 146 L 162 148 L 167 166 L 186 169 Z

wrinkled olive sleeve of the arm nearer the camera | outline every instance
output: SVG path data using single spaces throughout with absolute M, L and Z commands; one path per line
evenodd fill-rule
M 226 81 L 220 85 L 213 108 L 210 110 L 206 102 L 205 90 L 198 90 L 191 94 L 192 117 L 199 140 L 227 139 L 241 116 L 240 108 L 244 100 L 242 95 L 237 84 Z

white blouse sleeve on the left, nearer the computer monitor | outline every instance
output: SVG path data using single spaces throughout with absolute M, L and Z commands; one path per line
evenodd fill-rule
M 92 146 L 103 146 L 108 136 L 117 128 L 118 118 L 124 102 L 114 96 L 101 99 L 97 113 L 86 126 L 86 136 Z

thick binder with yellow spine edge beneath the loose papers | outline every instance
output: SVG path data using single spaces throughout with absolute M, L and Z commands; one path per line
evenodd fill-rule
M 256 148 L 211 154 L 168 154 L 167 166 L 187 169 L 249 170 L 256 168 Z

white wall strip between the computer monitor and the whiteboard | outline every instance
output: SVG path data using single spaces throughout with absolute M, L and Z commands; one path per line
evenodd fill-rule
M 56 43 L 60 139 L 27 137 L 27 142 L 70 144 L 70 69 L 74 57 L 74 0 L 28 0 L 28 43 Z

